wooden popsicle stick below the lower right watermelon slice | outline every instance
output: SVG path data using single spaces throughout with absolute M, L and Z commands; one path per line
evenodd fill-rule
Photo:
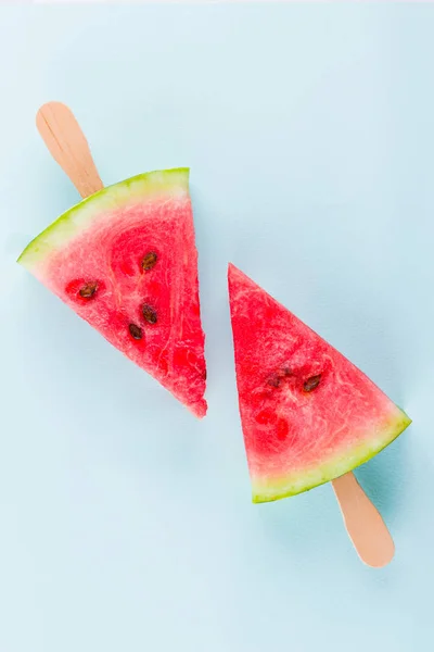
M 332 480 L 332 485 L 348 536 L 361 561 L 375 568 L 388 564 L 394 556 L 395 544 L 380 512 L 354 473 Z

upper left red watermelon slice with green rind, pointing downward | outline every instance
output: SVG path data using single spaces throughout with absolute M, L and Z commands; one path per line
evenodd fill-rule
M 193 414 L 205 415 L 188 168 L 142 174 L 92 195 L 18 262 Z

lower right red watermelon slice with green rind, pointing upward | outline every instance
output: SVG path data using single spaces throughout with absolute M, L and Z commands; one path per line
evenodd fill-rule
M 365 374 L 233 265 L 228 280 L 253 502 L 328 482 L 367 462 L 411 423 Z

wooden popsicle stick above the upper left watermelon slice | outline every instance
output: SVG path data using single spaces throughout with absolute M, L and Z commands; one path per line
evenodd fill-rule
M 36 126 L 53 159 L 81 197 L 103 188 L 88 141 L 73 112 L 61 102 L 48 102 L 37 113 Z

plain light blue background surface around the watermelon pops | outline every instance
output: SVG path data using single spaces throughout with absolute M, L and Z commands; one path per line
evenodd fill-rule
M 0 9 L 1 652 L 433 649 L 433 29 L 420 5 Z M 14 263 L 77 201 L 51 99 L 106 184 L 191 166 L 204 422 Z M 388 567 L 329 486 L 251 504 L 229 260 L 413 418 L 357 473 Z

